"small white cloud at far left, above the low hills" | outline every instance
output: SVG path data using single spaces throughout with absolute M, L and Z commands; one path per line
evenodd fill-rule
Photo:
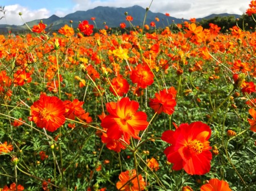
M 5 6 L 5 18 L 0 20 L 0 24 L 15 24 L 23 25 L 24 22 L 30 22 L 36 19 L 49 18 L 50 12 L 47 9 L 29 10 L 27 7 L 16 5 Z M 22 18 L 19 16 L 19 12 L 22 12 Z M 3 14 L 0 13 L 0 17 Z

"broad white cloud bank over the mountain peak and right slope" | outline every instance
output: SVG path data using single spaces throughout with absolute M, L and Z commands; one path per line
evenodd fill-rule
M 162 12 L 165 14 L 168 12 L 171 16 L 176 18 L 201 18 L 210 14 L 240 14 L 242 15 L 249 7 L 251 0 L 155 0 L 152 2 L 150 11 Z M 76 5 L 73 7 L 73 11 L 86 11 L 93 9 L 97 6 L 109 6 L 109 7 L 130 7 L 134 5 L 142 6 L 146 9 L 151 3 L 151 0 L 108 0 L 108 1 L 90 1 L 90 0 L 73 0 Z

